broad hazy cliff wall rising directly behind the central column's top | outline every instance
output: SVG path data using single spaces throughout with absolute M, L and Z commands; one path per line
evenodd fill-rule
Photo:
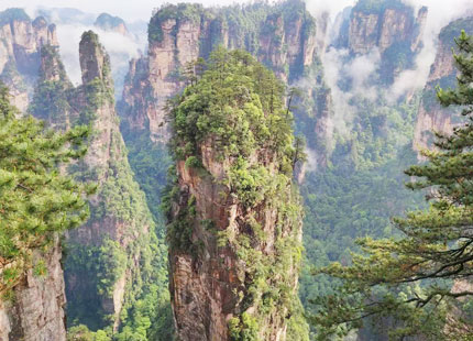
M 130 64 L 120 106 L 123 127 L 136 134 L 150 132 L 153 141 L 166 141 L 166 100 L 183 89 L 186 64 L 207 57 L 219 44 L 251 52 L 280 79 L 295 82 L 318 61 L 326 29 L 323 21 L 316 28 L 298 1 L 244 10 L 163 7 L 150 22 L 147 56 Z

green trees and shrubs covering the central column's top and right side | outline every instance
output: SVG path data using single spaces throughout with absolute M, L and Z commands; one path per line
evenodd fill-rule
M 248 279 L 245 290 L 240 293 L 241 314 L 229 321 L 232 340 L 264 338 L 263 322 L 279 310 L 287 311 L 282 318 L 287 318 L 288 323 L 290 319 L 300 321 L 293 276 L 301 255 L 297 237 L 301 207 L 292 176 L 294 160 L 301 151 L 299 146 L 296 152 L 294 145 L 293 118 L 284 107 L 284 94 L 274 74 L 250 54 L 218 48 L 197 81 L 169 102 L 169 145 L 175 162 L 184 162 L 193 172 L 198 170 L 196 167 L 207 170 L 198 176 L 222 186 L 221 195 L 231 197 L 246 212 L 241 215 L 241 231 L 237 235 L 230 237 L 226 231 L 215 235 L 219 248 L 231 248 L 245 264 Z M 202 148 L 207 147 L 211 147 L 216 162 L 227 165 L 218 179 L 205 169 Z M 195 235 L 196 227 L 199 224 L 209 233 L 217 231 L 212 221 L 197 219 L 196 198 L 179 188 L 175 168 L 170 174 L 163 199 L 169 246 L 174 252 L 198 257 L 204 242 Z M 255 248 L 267 238 L 257 208 L 278 215 L 274 255 Z M 307 340 L 307 329 L 294 329 L 293 336 L 293 340 Z

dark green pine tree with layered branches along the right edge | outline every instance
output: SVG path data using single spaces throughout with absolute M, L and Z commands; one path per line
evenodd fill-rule
M 473 336 L 468 314 L 459 314 L 471 304 L 471 285 L 452 290 L 452 283 L 473 275 L 473 37 L 462 32 L 455 42 L 458 87 L 438 88 L 437 95 L 443 107 L 462 106 L 466 120 L 452 134 L 436 133 L 436 150 L 422 152 L 428 162 L 405 172 L 416 178 L 408 188 L 427 189 L 430 207 L 393 220 L 400 238 L 364 238 L 363 253 L 351 265 L 319 270 L 341 279 L 337 293 L 315 300 L 311 322 L 320 340 L 346 334 L 367 319 L 388 321 L 394 340 Z

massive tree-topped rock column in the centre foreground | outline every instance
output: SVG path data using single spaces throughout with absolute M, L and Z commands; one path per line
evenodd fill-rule
M 299 307 L 301 209 L 283 88 L 246 53 L 218 50 L 211 61 L 170 112 L 176 179 L 165 207 L 178 339 L 298 340 L 288 324 Z

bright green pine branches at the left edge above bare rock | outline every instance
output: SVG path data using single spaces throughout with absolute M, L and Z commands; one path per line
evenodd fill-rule
M 89 215 L 92 188 L 61 174 L 58 166 L 84 156 L 85 127 L 65 133 L 45 130 L 31 117 L 18 119 L 8 89 L 0 88 L 0 290 L 11 288 L 32 266 L 31 253 Z M 36 263 L 44 274 L 44 263 Z

